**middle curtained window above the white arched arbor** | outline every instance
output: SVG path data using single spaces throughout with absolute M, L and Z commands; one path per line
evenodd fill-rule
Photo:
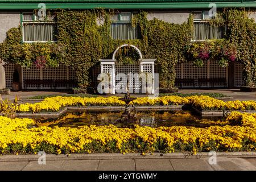
M 131 25 L 131 13 L 120 13 L 111 16 L 111 36 L 113 39 L 139 39 L 139 27 Z

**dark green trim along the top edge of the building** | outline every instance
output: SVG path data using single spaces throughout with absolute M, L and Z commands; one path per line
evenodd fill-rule
M 256 7 L 251 2 L 215 2 L 222 7 Z M 208 9 L 209 2 L 148 2 L 148 3 L 46 3 L 47 9 Z M 38 3 L 0 3 L 0 10 L 34 10 Z

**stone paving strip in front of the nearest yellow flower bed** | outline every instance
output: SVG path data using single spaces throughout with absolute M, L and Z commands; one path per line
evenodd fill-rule
M 210 165 L 202 159 L 97 159 L 0 162 L 0 171 L 255 171 L 256 158 L 218 157 Z

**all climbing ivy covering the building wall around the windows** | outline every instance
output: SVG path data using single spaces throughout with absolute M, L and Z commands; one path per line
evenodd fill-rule
M 90 72 L 99 59 L 110 59 L 117 47 L 133 44 L 141 50 L 143 58 L 156 59 L 160 87 L 172 88 L 176 77 L 175 65 L 201 58 L 197 47 L 208 45 L 206 42 L 191 43 L 192 16 L 183 24 L 173 24 L 155 18 L 148 20 L 144 11 L 135 14 L 132 21 L 133 26 L 141 30 L 140 39 L 114 40 L 110 35 L 110 15 L 113 13 L 114 10 L 102 9 L 57 10 L 57 43 L 22 43 L 20 27 L 11 28 L 5 41 L 0 44 L 0 57 L 7 63 L 26 67 L 32 64 L 39 68 L 55 67 L 63 63 L 76 69 L 80 87 L 88 88 L 92 81 Z M 213 23 L 227 25 L 226 42 L 215 42 L 217 46 L 213 47 L 221 47 L 222 51 L 210 49 L 210 56 L 219 59 L 220 65 L 225 66 L 231 58 L 223 50 L 236 52 L 236 60 L 245 64 L 246 85 L 255 86 L 255 23 L 248 18 L 246 11 L 241 10 L 225 10 L 219 16 L 221 19 Z M 232 46 L 226 48 L 225 44 Z M 189 55 L 196 54 L 198 57 L 189 58 Z M 130 47 L 123 47 L 116 58 L 119 63 L 131 64 L 135 63 L 138 55 Z

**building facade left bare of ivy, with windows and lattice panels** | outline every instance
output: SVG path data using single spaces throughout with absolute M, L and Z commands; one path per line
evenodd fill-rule
M 44 4 L 40 4 L 44 3 Z M 154 18 L 163 20 L 168 23 L 182 24 L 187 22 L 189 14 L 195 14 L 194 18 L 194 35 L 191 41 L 207 40 L 207 39 L 221 39 L 223 30 L 220 27 L 210 27 L 209 24 L 204 23 L 208 19 L 208 11 L 214 3 L 217 11 L 225 7 L 246 7 L 250 9 L 250 18 L 256 20 L 256 1 L 236 1 L 236 0 L 122 0 L 122 1 L 96 1 L 96 0 L 0 0 L 0 42 L 6 38 L 6 32 L 13 27 L 22 27 L 22 41 L 26 43 L 32 42 L 48 42 L 57 41 L 54 34 L 57 29 L 56 21 L 53 17 L 51 23 L 40 22 L 36 24 L 35 19 L 39 18 L 34 15 L 35 9 L 40 9 L 46 6 L 47 9 L 95 9 L 102 7 L 104 9 L 117 9 L 119 14 L 112 17 L 111 34 L 113 39 L 137 39 L 138 31 L 131 27 L 131 18 L 138 10 L 145 10 L 148 12 L 147 19 Z M 223 28 L 223 27 L 222 27 Z M 22 68 L 14 64 L 0 64 L 0 89 L 11 88 L 13 82 L 13 73 L 15 69 L 19 72 L 19 82 L 22 89 L 25 89 L 24 80 L 38 79 L 38 80 L 75 80 L 75 72 L 65 65 L 60 65 L 58 68 Z M 183 87 L 210 87 L 212 85 L 200 85 L 198 78 L 225 78 L 226 85 L 229 88 L 239 87 L 243 85 L 242 79 L 243 65 L 235 63 L 229 65 L 227 68 L 220 68 L 217 64 L 205 61 L 201 68 L 193 67 L 189 63 L 182 63 L 176 65 L 177 79 L 195 79 L 195 85 L 190 83 L 183 83 Z M 30 85 L 27 89 L 43 89 L 49 86 Z M 58 88 L 64 88 L 61 84 Z

